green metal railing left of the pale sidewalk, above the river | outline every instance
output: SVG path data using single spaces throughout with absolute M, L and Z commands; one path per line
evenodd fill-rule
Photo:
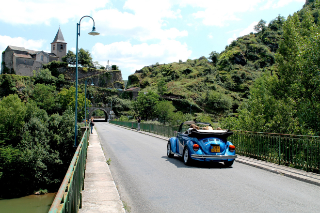
M 86 128 L 49 213 L 78 213 L 81 208 L 89 133 Z

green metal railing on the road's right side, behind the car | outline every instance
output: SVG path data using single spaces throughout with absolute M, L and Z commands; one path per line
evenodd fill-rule
M 137 129 L 137 122 L 111 121 L 111 123 Z M 142 131 L 175 136 L 179 126 L 141 123 Z M 184 127 L 182 131 L 186 131 Z M 320 137 L 232 130 L 228 140 L 236 146 L 237 154 L 266 160 L 278 165 L 301 168 L 306 171 L 320 170 Z

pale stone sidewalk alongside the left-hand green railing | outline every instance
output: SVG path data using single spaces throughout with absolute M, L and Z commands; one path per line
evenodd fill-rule
M 79 213 L 125 213 L 96 130 L 90 134 Z

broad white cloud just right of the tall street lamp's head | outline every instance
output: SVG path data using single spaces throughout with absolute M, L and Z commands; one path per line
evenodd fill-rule
M 142 0 L 140 0 L 142 1 Z M 150 2 L 144 4 L 134 4 L 133 0 L 128 0 L 124 8 L 133 10 L 134 14 L 120 12 L 117 9 L 99 10 L 93 13 L 97 26 L 97 31 L 101 35 L 122 35 L 129 38 L 147 41 L 150 39 L 175 39 L 187 36 L 187 30 L 177 30 L 176 28 L 162 29 L 166 26 L 163 18 L 179 18 L 180 10 L 176 12 L 170 10 L 170 5 L 163 4 L 150 7 Z M 140 2 L 141 3 L 141 2 Z M 115 18 L 116 17 L 116 18 Z M 91 22 L 83 22 L 81 27 L 90 28 Z

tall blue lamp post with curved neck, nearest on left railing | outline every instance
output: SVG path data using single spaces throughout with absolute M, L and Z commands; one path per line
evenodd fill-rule
M 90 17 L 89 15 L 85 15 L 85 16 L 83 16 L 82 18 L 84 18 L 84 17 Z M 75 124 L 75 145 L 74 145 L 74 147 L 77 147 L 77 137 L 78 137 L 78 115 L 77 115 L 77 113 L 78 113 L 78 37 L 80 36 L 80 22 L 81 22 L 81 19 L 82 18 L 80 18 L 80 21 L 79 21 L 79 23 L 77 23 L 77 46 L 76 46 L 76 48 L 77 48 L 77 51 L 76 51 L 76 106 L 75 106 L 75 108 L 76 108 L 76 124 Z M 92 20 L 93 20 L 93 22 L 94 22 L 94 26 L 92 27 L 92 31 L 91 32 L 89 32 L 88 34 L 89 35 L 99 35 L 100 33 L 98 33 L 98 32 L 96 32 L 96 27 L 95 27 L 95 20 L 92 18 L 92 17 L 90 17 Z

